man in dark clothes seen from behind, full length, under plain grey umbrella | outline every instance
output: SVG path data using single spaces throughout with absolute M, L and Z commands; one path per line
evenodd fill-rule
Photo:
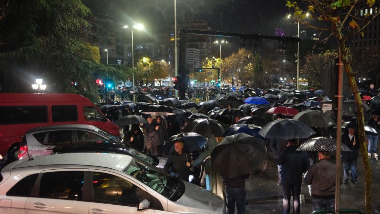
M 300 194 L 303 173 L 310 167 L 309 157 L 305 151 L 296 151 L 297 139 L 288 140 L 287 147 L 276 159 L 276 164 L 281 165 L 281 180 L 283 182 L 283 206 L 284 214 L 290 212 L 290 198 L 293 196 L 293 213 L 300 214 Z

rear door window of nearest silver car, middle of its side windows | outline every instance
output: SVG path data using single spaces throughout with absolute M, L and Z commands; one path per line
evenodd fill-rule
M 39 197 L 82 200 L 83 171 L 43 173 Z

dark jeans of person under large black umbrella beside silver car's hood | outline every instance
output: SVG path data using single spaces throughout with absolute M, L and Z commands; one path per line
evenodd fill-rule
M 226 204 L 228 214 L 235 213 L 235 204 L 237 214 L 244 214 L 246 211 L 246 189 L 245 187 L 228 187 L 226 186 Z

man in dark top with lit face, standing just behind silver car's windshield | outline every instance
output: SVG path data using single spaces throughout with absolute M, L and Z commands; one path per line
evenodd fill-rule
M 174 143 L 174 152 L 169 154 L 165 163 L 164 171 L 169 172 L 176 178 L 189 182 L 189 169 L 191 167 L 191 154 L 183 151 L 183 142 Z

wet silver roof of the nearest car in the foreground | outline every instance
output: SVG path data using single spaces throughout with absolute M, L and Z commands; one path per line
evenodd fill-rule
M 64 153 L 38 156 L 29 160 L 18 160 L 9 164 L 6 168 L 19 169 L 35 166 L 81 165 L 106 167 L 121 171 L 132 160 L 135 160 L 132 156 L 115 153 Z

